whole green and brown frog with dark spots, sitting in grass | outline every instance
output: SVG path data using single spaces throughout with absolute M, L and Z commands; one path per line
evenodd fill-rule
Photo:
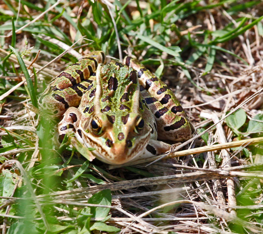
M 106 63 L 94 51 L 55 77 L 38 100 L 60 115 L 54 140 L 73 131 L 101 161 L 119 165 L 162 155 L 167 141 L 190 139 L 195 128 L 167 85 L 134 56 Z

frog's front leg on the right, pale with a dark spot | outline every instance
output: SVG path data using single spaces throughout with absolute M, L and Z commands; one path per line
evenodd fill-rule
M 165 154 L 170 150 L 171 145 L 166 144 L 162 141 L 151 140 L 144 149 L 143 153 L 139 156 L 139 159 L 145 159 L 156 155 Z

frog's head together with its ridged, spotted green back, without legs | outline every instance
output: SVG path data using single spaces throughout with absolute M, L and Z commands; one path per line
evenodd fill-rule
M 138 75 L 133 68 L 111 62 L 96 71 L 94 111 L 80 121 L 84 143 L 109 164 L 134 160 L 147 146 L 151 128 L 144 119 Z

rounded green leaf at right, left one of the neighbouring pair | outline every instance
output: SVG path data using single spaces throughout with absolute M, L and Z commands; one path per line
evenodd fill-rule
M 226 117 L 225 121 L 229 128 L 231 128 L 237 135 L 240 135 L 237 130 L 246 122 L 246 112 L 243 109 L 239 109 L 235 111 L 235 113 Z

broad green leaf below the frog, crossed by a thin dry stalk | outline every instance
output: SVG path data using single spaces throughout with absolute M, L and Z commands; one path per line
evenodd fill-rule
M 112 204 L 112 195 L 110 189 L 105 189 L 95 193 L 89 200 L 90 204 L 99 204 L 110 206 Z M 110 208 L 107 207 L 90 207 L 90 213 L 93 218 L 104 218 L 108 216 Z

